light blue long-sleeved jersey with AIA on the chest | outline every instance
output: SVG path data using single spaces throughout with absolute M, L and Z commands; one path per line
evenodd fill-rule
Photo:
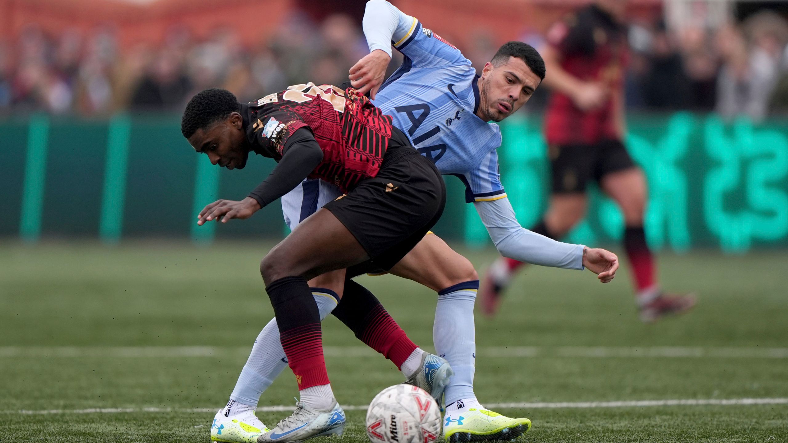
M 370 52 L 383 50 L 391 55 L 393 44 L 405 56 L 400 69 L 377 91 L 374 104 L 393 117 L 394 125 L 441 173 L 463 181 L 466 202 L 474 203 L 501 255 L 582 270 L 582 244 L 551 240 L 522 228 L 517 221 L 498 173 L 500 128 L 476 116 L 478 76 L 470 61 L 385 0 L 367 2 L 362 26 Z M 295 229 L 341 193 L 325 181 L 304 181 L 282 197 L 284 220 Z

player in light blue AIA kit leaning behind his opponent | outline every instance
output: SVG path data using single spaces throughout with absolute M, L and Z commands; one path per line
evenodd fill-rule
M 441 173 L 463 181 L 466 201 L 474 203 L 500 253 L 543 266 L 576 270 L 585 266 L 598 274 L 600 281 L 610 281 L 618 268 L 615 254 L 557 242 L 523 229 L 500 183 L 496 154 L 500 129 L 488 121 L 501 121 L 514 113 L 541 83 L 544 63 L 536 50 L 525 43 L 507 43 L 485 65 L 480 77 L 457 48 L 384 0 L 367 3 L 363 28 L 370 54 L 351 68 L 352 86 L 369 91 L 374 104 L 392 115 L 394 125 L 435 162 Z M 405 59 L 381 85 L 392 43 Z M 285 220 L 295 229 L 300 221 L 340 195 L 338 188 L 325 181 L 304 181 L 282 198 Z M 439 295 L 433 341 L 437 353 L 455 371 L 444 394 L 444 437 L 449 441 L 511 440 L 530 429 L 530 420 L 489 411 L 475 396 L 474 301 L 478 274 L 470 262 L 437 236 L 427 235 L 390 272 L 418 281 Z M 322 317 L 336 306 L 344 281 L 344 271 L 310 281 Z M 418 368 L 424 352 L 417 349 L 413 354 L 408 360 L 416 366 L 403 364 L 401 368 L 408 378 Z M 281 357 L 284 352 L 273 319 L 255 341 L 227 407 L 214 419 L 214 428 L 223 426 L 224 434 L 218 438 L 212 429 L 212 439 L 254 441 L 255 428 L 266 429 L 254 411 L 261 393 L 287 366 Z M 280 423 L 277 435 L 308 421 L 305 417 Z M 303 441 L 319 432 L 295 434 L 298 441 Z M 287 437 L 281 440 L 292 441 Z

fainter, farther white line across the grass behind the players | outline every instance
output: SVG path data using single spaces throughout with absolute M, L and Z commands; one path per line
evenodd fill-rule
M 251 347 L 211 346 L 0 346 L 0 358 L 17 357 L 226 357 L 246 356 Z M 326 346 L 328 357 L 375 357 L 377 352 L 363 346 Z M 480 358 L 515 359 L 527 357 L 567 358 L 715 358 L 715 359 L 788 359 L 788 348 L 701 347 L 701 346 L 497 346 L 477 348 Z

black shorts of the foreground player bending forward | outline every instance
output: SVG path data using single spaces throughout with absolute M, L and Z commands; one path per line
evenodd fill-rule
M 377 176 L 325 205 L 370 256 L 369 262 L 348 270 L 348 277 L 391 269 L 443 214 L 443 178 L 433 162 L 394 129 Z

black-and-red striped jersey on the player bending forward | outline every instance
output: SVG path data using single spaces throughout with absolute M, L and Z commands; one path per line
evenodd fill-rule
M 348 192 L 375 177 L 392 136 L 392 118 L 355 89 L 312 83 L 250 102 L 247 138 L 257 154 L 282 158 L 284 143 L 299 128 L 310 128 L 323 160 L 309 178 L 320 178 Z

